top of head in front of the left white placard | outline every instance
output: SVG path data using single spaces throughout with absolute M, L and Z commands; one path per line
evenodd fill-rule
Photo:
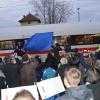
M 28 90 L 21 90 L 16 93 L 12 100 L 35 100 L 35 98 Z

